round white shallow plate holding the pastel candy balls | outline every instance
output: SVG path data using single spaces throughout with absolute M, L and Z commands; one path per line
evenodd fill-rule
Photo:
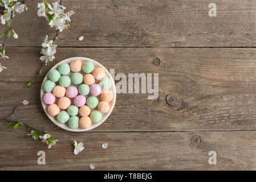
M 94 67 L 97 68 L 97 67 L 101 67 L 104 69 L 105 73 L 107 73 L 107 76 L 109 77 L 109 79 L 111 80 L 111 88 L 109 90 L 111 90 L 113 92 L 113 100 L 111 102 L 109 102 L 109 105 L 110 105 L 110 109 L 108 111 L 108 113 L 105 113 L 103 114 L 102 113 L 102 118 L 101 118 L 101 121 L 97 122 L 97 123 L 94 123 L 92 122 L 92 125 L 90 128 L 88 129 L 82 129 L 80 127 L 78 127 L 77 129 L 71 129 L 67 122 L 66 123 L 60 123 L 56 120 L 56 116 L 55 117 L 52 117 L 50 114 L 47 113 L 47 105 L 43 103 L 43 94 L 45 93 L 44 90 L 43 90 L 43 84 L 46 80 L 48 80 L 48 74 L 49 72 L 52 70 L 52 69 L 56 69 L 58 70 L 58 66 L 60 64 L 63 64 L 63 63 L 67 63 L 67 64 L 70 64 L 71 61 L 75 60 L 75 59 L 80 59 L 82 61 L 82 64 L 86 61 L 91 61 L 93 64 L 94 64 Z M 110 73 L 107 71 L 107 69 L 105 67 L 103 67 L 103 65 L 101 65 L 100 63 L 98 63 L 97 61 L 95 60 L 92 60 L 92 59 L 89 59 L 87 57 L 71 57 L 71 58 L 68 58 L 68 59 L 65 59 L 63 61 L 60 61 L 58 64 L 54 65 L 54 67 L 52 67 L 50 69 L 50 71 L 46 74 L 46 76 L 44 77 L 44 80 L 42 82 L 42 86 L 41 86 L 41 93 L 40 93 L 40 97 L 41 97 L 41 102 L 42 102 L 42 106 L 43 106 L 43 110 L 44 112 L 46 113 L 46 115 L 48 116 L 49 119 L 51 119 L 52 122 L 55 123 L 55 125 L 58 125 L 59 127 L 61 127 L 62 129 L 64 130 L 68 130 L 68 131 L 75 131 L 75 132 L 81 132 L 81 131 L 88 131 L 88 130 L 92 130 L 94 129 L 95 127 L 101 125 L 101 123 L 103 123 L 107 118 L 108 116 L 111 114 L 112 110 L 113 110 L 113 107 L 115 106 L 115 102 L 116 102 L 116 86 L 115 86 L 115 81 L 113 80 L 112 76 L 110 75 Z M 85 75 L 86 73 L 84 73 L 83 71 L 80 71 L 80 73 L 82 73 L 83 75 Z M 70 74 L 68 74 L 68 76 L 71 76 L 72 75 L 72 72 L 70 72 Z M 95 82 L 99 82 L 99 81 L 96 81 Z M 58 82 L 56 82 L 56 85 L 58 85 Z M 76 86 L 78 87 L 79 85 L 74 85 L 71 83 L 70 86 Z M 86 96 L 86 98 L 88 98 L 90 96 L 90 94 L 88 94 Z M 100 98 L 100 96 L 97 96 L 97 98 Z M 100 100 L 99 100 L 100 101 Z M 58 102 L 58 98 L 56 97 L 56 101 L 55 101 L 55 104 Z M 71 101 L 71 105 L 72 105 L 72 101 Z M 91 111 L 93 111 L 95 109 L 91 109 Z M 80 118 L 81 116 L 78 114 L 78 117 Z

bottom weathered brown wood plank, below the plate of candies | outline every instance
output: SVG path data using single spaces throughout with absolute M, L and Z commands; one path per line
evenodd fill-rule
M 255 134 L 54 133 L 60 140 L 48 150 L 26 133 L 1 132 L 0 169 L 90 170 L 92 163 L 97 170 L 255 170 Z M 86 149 L 74 155 L 73 140 L 82 141 Z M 101 144 L 105 142 L 108 148 L 104 150 Z M 41 150 L 46 152 L 46 165 L 37 164 Z M 209 151 L 216 151 L 216 165 L 208 163 Z

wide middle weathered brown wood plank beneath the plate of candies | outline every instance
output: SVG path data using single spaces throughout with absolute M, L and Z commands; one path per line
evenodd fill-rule
M 6 117 L 19 105 L 16 118 L 21 122 L 42 130 L 64 131 L 47 118 L 40 104 L 46 71 L 30 90 L 22 88 L 40 68 L 39 51 L 9 48 L 10 59 L 1 61 L 8 69 L 0 75 L 0 115 Z M 117 94 L 113 113 L 93 131 L 256 129 L 254 48 L 58 48 L 57 52 L 55 63 L 84 56 L 127 76 L 159 73 L 157 100 L 148 100 L 148 94 Z M 155 57 L 160 59 L 158 66 L 152 64 Z M 22 105 L 25 99 L 30 101 L 27 106 Z M 0 130 L 12 131 L 4 123 Z

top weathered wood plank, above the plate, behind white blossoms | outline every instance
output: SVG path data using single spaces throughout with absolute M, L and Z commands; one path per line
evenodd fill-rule
M 108 0 L 64 1 L 74 10 L 71 26 L 60 34 L 59 46 L 90 47 L 242 47 L 255 46 L 254 0 L 216 0 L 217 16 L 209 17 L 209 1 Z M 19 39 L 7 46 L 40 46 L 54 36 L 36 2 L 17 14 L 13 28 Z M 0 32 L 4 31 L 3 26 Z M 85 39 L 78 41 L 83 35 Z

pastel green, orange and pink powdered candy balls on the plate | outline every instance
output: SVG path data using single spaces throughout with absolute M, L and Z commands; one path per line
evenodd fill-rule
M 68 122 L 71 129 L 79 126 L 88 129 L 92 122 L 99 122 L 102 114 L 108 113 L 113 93 L 103 68 L 95 68 L 90 61 L 82 64 L 73 60 L 50 71 L 48 78 L 43 84 L 43 103 L 47 105 L 47 113 L 56 116 L 60 123 Z

